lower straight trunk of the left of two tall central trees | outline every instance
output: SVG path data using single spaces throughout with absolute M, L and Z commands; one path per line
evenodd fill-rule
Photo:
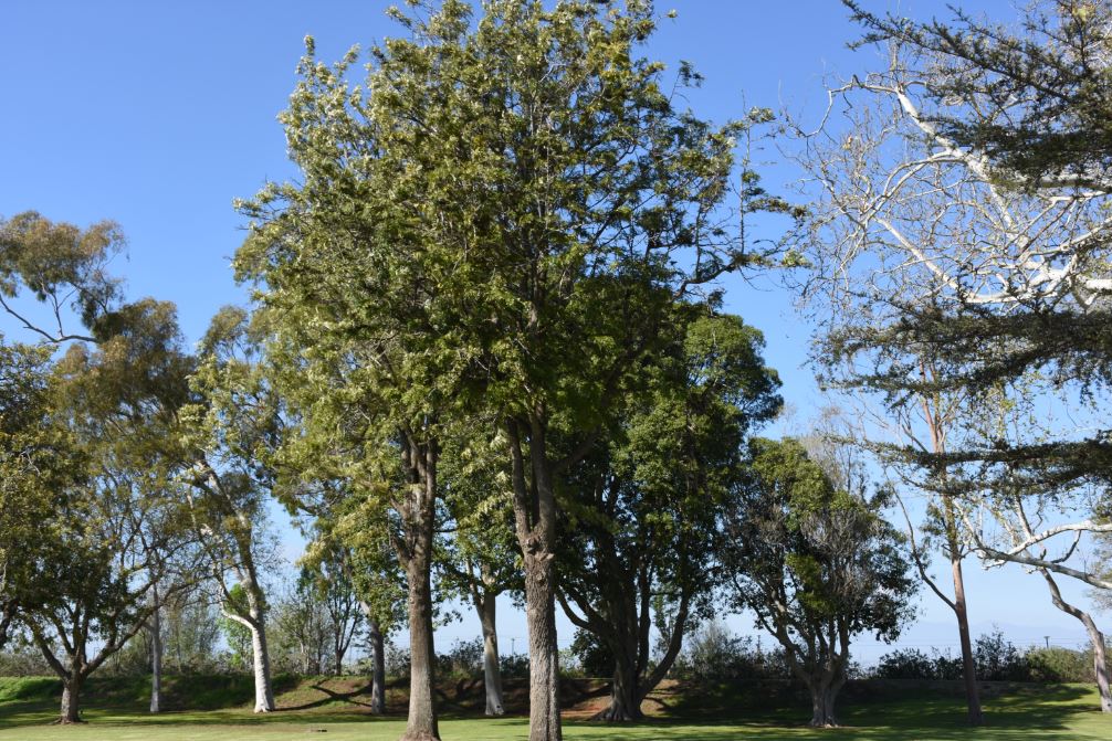
M 433 585 L 429 550 L 418 544 L 406 564 L 409 582 L 409 720 L 403 741 L 439 739 L 434 682 L 436 651 L 433 645 Z

